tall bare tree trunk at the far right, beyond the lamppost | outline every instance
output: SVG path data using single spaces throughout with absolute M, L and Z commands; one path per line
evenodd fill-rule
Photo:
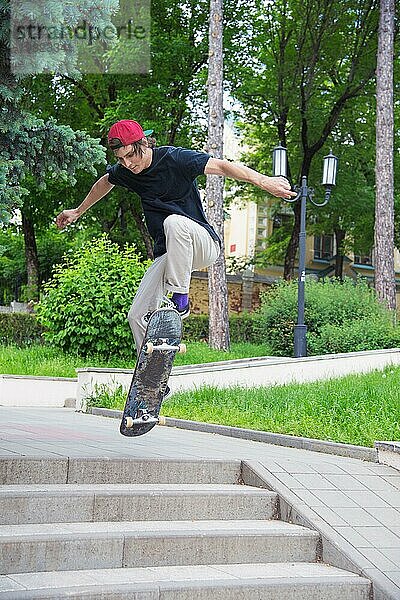
M 381 0 L 376 69 L 375 289 L 396 309 L 393 189 L 394 0 Z

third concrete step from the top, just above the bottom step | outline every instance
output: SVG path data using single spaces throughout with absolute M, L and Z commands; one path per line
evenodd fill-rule
M 312 562 L 319 534 L 281 521 L 0 526 L 1 574 L 215 563 Z

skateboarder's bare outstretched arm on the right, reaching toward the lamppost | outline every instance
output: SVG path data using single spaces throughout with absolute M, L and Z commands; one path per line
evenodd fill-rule
M 277 198 L 294 198 L 297 195 L 296 192 L 291 191 L 290 183 L 285 177 L 268 177 L 249 167 L 228 160 L 210 158 L 204 173 L 206 175 L 223 175 L 230 179 L 252 183 Z

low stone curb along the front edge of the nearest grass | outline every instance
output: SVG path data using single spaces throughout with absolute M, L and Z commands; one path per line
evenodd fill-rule
M 111 410 L 108 408 L 92 408 L 91 413 L 93 415 L 111 417 L 114 419 L 122 418 L 122 411 Z M 311 452 L 335 454 L 337 456 L 356 458 L 368 462 L 378 462 L 377 448 L 367 448 L 366 446 L 353 446 L 352 444 L 340 444 L 337 442 L 327 442 L 313 438 L 284 435 L 281 433 L 270 433 L 268 431 L 257 431 L 256 429 L 241 429 L 240 427 L 216 425 L 214 423 L 186 421 L 184 419 L 174 419 L 172 417 L 163 416 L 160 417 L 160 425 L 177 427 L 179 429 L 189 429 L 191 431 L 202 431 L 204 433 L 215 433 L 228 437 L 251 440 L 254 442 L 263 442 L 264 444 L 286 446 L 288 448 L 297 448 L 299 450 L 310 450 Z

